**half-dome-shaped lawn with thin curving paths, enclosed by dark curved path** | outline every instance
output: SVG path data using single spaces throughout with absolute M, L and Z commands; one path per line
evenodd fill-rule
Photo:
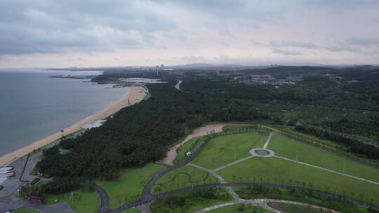
M 191 176 L 191 182 L 189 182 L 189 177 L 187 174 L 184 173 L 187 173 Z M 218 183 L 218 179 L 213 177 L 212 174 L 208 174 L 208 172 L 200 170 L 197 167 L 186 165 L 179 169 L 168 172 L 163 177 L 158 179 L 152 188 L 152 193 L 163 193 L 179 188 L 216 183 Z

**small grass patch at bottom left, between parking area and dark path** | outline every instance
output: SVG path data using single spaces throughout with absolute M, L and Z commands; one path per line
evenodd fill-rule
M 71 193 L 62 193 L 55 195 L 46 195 L 46 204 L 55 204 L 54 200 L 57 199 L 58 202 L 67 202 L 69 207 L 74 210 L 74 212 L 88 212 L 97 213 L 100 209 L 100 196 L 96 191 L 84 190 L 75 191 L 73 196 Z M 72 199 L 73 198 L 73 199 Z

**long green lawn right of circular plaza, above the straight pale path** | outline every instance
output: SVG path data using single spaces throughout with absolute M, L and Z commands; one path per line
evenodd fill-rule
M 288 137 L 273 135 L 267 148 L 273 150 L 277 156 L 310 163 L 336 172 L 343 172 L 345 167 L 346 174 L 379 182 L 379 169 L 375 167 L 357 163 L 349 158 L 337 156 Z

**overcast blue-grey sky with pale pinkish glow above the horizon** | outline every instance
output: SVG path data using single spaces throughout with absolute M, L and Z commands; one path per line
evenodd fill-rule
M 1 0 L 0 69 L 379 64 L 376 0 Z

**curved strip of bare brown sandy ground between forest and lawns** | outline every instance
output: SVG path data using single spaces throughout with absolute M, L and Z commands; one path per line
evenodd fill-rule
M 207 133 L 210 133 L 212 130 L 214 130 L 214 132 L 222 132 L 222 128 L 225 127 L 225 125 L 246 125 L 246 124 L 215 123 L 215 124 L 205 125 L 204 127 L 201 127 L 201 128 L 197 128 L 196 130 L 194 130 L 194 132 L 192 132 L 191 135 L 188 135 L 184 140 L 182 140 L 182 142 L 171 147 L 171 149 L 167 152 L 166 158 L 162 160 L 162 163 L 166 165 L 173 165 L 173 161 L 175 160 L 175 157 L 176 157 L 176 150 L 179 149 L 179 147 L 182 146 L 182 144 L 185 144 L 186 142 L 188 142 L 190 139 L 194 137 L 207 135 Z

